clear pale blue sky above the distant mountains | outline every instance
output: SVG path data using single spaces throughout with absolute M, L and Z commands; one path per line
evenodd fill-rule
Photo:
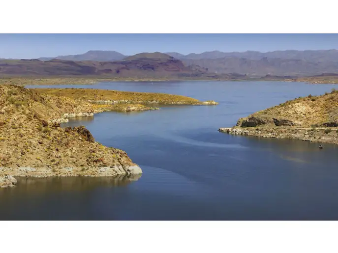
M 0 58 L 77 55 L 113 50 L 142 52 L 268 52 L 338 49 L 338 34 L 0 34 Z

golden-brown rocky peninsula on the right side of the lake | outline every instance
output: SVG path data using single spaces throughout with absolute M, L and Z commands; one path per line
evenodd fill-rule
M 219 132 L 338 144 L 338 91 L 308 95 L 255 112 Z

